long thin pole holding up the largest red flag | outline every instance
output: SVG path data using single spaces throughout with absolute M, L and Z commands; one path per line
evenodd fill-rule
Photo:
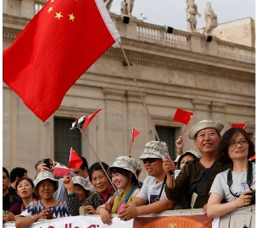
M 152 128 L 153 128 L 153 131 L 154 131 L 154 133 L 155 133 L 155 135 L 156 135 L 156 137 L 157 137 L 157 139 L 158 139 L 158 141 L 159 141 L 160 149 L 162 149 L 163 154 L 165 155 L 165 153 L 164 153 L 164 147 L 163 147 L 163 145 L 162 145 L 162 143 L 161 143 L 161 141 L 160 141 L 159 134 L 157 133 L 157 130 L 156 130 L 155 126 L 154 126 L 152 117 L 150 116 L 149 111 L 148 111 L 148 109 L 147 109 L 147 105 L 146 105 L 146 103 L 145 103 L 145 101 L 144 101 L 144 99 L 143 99 L 143 97 L 142 97 L 142 92 L 141 92 L 141 90 L 140 90 L 140 88 L 139 88 L 139 85 L 137 84 L 136 78 L 135 78 L 134 73 L 133 73 L 133 71 L 132 71 L 132 69 L 131 69 L 131 64 L 130 64 L 130 62 L 128 61 L 128 58 L 126 57 L 125 50 L 123 49 L 123 46 L 122 46 L 121 44 L 120 44 L 120 48 L 122 49 L 122 52 L 123 52 L 123 54 L 124 54 L 124 56 L 125 56 L 125 60 L 126 60 L 126 62 L 127 62 L 127 64 L 128 64 L 128 68 L 129 68 L 129 70 L 130 70 L 131 76 L 132 76 L 132 78 L 133 78 L 133 80 L 134 80 L 134 82 L 135 82 L 135 84 L 136 84 L 136 89 L 138 90 L 139 95 L 141 96 L 143 106 L 145 107 L 145 109 L 146 109 L 146 111 L 147 111 L 147 117 L 149 118 L 150 123 L 151 123 L 151 126 L 152 126 Z M 167 157 L 167 156 L 165 155 L 165 157 Z M 170 171 L 170 172 L 172 172 L 172 171 Z

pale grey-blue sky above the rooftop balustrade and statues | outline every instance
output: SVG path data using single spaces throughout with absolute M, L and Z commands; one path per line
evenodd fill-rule
M 120 14 L 121 2 L 114 0 L 110 11 Z M 203 9 L 207 2 L 212 3 L 219 24 L 247 17 L 255 19 L 254 0 L 195 0 L 199 14 L 202 14 L 202 17 L 198 18 L 197 29 L 204 26 Z M 147 23 L 186 30 L 186 0 L 135 0 L 132 15 L 137 19 L 147 18 L 144 20 Z

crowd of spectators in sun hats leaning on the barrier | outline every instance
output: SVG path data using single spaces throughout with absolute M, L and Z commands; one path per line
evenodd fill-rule
M 57 179 L 56 161 L 36 162 L 34 182 L 24 168 L 10 174 L 3 167 L 3 221 L 26 227 L 38 220 L 100 214 L 111 224 L 112 214 L 131 220 L 142 214 L 171 209 L 202 209 L 210 218 L 255 204 L 254 144 L 242 128 L 224 128 L 220 122 L 203 120 L 193 126 L 189 138 L 199 152 L 183 151 L 177 138 L 177 159 L 171 160 L 164 142 L 150 141 L 140 160 L 147 172 L 139 182 L 141 162 L 119 156 L 111 166 L 97 162 Z M 163 151 L 164 150 L 164 151 Z M 82 213 L 81 213 L 82 209 Z

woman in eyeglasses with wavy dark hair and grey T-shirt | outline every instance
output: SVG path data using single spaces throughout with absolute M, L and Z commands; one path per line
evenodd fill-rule
M 234 209 L 255 202 L 255 164 L 248 161 L 254 155 L 254 144 L 242 128 L 230 128 L 222 138 L 217 159 L 231 163 L 231 169 L 218 174 L 210 189 L 207 215 L 220 217 Z M 221 204 L 222 201 L 225 204 Z

